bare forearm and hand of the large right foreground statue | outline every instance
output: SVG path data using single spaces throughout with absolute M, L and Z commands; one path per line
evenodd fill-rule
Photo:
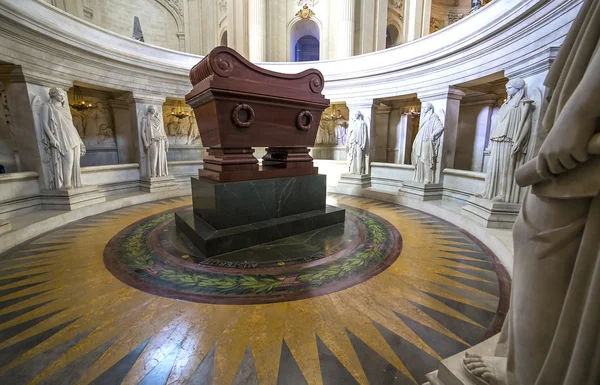
M 600 45 L 600 43 L 599 43 Z M 600 103 L 600 49 L 597 46 L 581 81 L 565 103 L 540 147 L 537 172 L 550 178 L 587 161 L 587 145 L 597 130 Z M 559 95 L 554 95 L 558 97 Z

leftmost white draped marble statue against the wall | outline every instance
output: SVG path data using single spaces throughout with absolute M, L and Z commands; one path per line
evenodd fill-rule
M 85 145 L 73 125 L 69 107 L 65 106 L 64 92 L 54 87 L 48 96 L 50 100 L 40 108 L 40 122 L 50 163 L 49 187 L 57 190 L 81 187 L 79 161 L 85 155 Z

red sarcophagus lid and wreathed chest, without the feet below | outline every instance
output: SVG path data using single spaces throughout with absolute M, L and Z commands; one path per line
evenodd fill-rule
M 329 105 L 320 71 L 265 70 L 227 47 L 217 47 L 190 70 L 194 109 L 205 146 L 311 147 Z

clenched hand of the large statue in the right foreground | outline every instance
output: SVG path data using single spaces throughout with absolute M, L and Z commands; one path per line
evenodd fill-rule
M 596 116 L 564 109 L 540 148 L 537 172 L 551 178 L 588 159 L 587 145 L 596 129 Z

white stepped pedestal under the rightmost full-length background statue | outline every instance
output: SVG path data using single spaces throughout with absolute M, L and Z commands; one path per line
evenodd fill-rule
M 463 206 L 467 218 L 493 229 L 511 229 L 521 210 L 520 203 L 492 202 L 489 199 L 471 197 Z

